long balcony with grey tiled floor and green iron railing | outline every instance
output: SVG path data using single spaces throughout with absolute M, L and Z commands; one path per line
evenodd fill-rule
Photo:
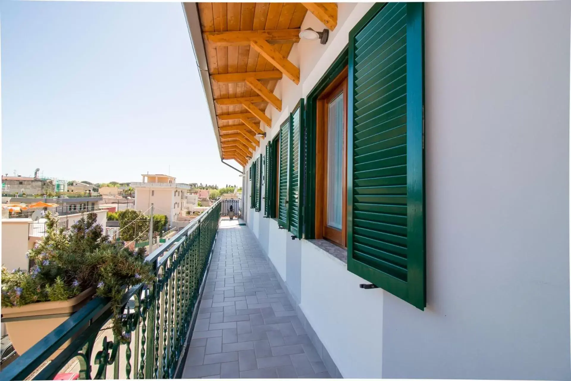
M 129 343 L 108 329 L 109 301 L 94 298 L 9 364 L 2 379 L 328 378 L 258 240 L 237 218 L 222 218 L 222 204 L 148 256 L 158 281 L 123 299 Z

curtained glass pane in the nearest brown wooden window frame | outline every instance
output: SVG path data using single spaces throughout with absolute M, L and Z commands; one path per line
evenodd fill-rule
M 343 93 L 328 105 L 327 225 L 343 227 Z

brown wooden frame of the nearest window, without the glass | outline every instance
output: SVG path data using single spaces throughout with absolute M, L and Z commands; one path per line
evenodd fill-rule
M 315 166 L 315 238 L 328 239 L 347 247 L 347 102 L 348 102 L 348 66 L 335 77 L 317 97 L 316 104 L 316 166 Z M 343 191 L 341 214 L 342 228 L 338 230 L 327 226 L 327 105 L 343 93 Z

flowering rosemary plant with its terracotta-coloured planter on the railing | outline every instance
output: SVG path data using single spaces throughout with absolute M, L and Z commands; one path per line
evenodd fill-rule
M 119 317 L 125 286 L 155 280 L 145 249 L 131 251 L 123 242 L 110 242 L 94 212 L 70 228 L 58 227 L 50 211 L 45 218 L 45 238 L 26 254 L 34 266 L 11 272 L 2 267 L 2 321 L 16 352 L 28 350 L 94 295 L 111 298 L 113 332 L 128 341 Z

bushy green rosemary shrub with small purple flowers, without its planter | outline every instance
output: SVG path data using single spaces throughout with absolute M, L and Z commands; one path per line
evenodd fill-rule
M 2 267 L 2 307 L 67 300 L 94 287 L 96 295 L 111 298 L 113 332 L 128 341 L 119 317 L 124 286 L 155 280 L 151 264 L 144 260 L 145 249 L 131 251 L 124 242 L 110 242 L 94 212 L 70 228 L 58 228 L 50 211 L 45 218 L 45 238 L 26 254 L 35 263 L 30 271 Z

